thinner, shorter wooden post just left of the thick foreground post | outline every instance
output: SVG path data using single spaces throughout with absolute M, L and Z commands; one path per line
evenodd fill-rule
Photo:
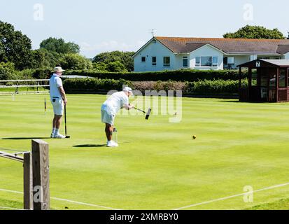
M 33 210 L 33 179 L 31 153 L 24 153 L 23 163 L 24 209 Z

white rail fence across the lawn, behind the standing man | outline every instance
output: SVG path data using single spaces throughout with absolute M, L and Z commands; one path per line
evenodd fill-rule
M 0 80 L 0 94 L 28 94 L 28 93 L 47 93 L 49 90 L 41 90 L 49 87 L 49 79 L 29 79 L 29 80 Z M 27 92 L 20 91 L 20 88 L 27 88 Z M 1 89 L 15 89 L 14 91 L 4 92 Z M 28 91 L 33 89 L 36 91 Z

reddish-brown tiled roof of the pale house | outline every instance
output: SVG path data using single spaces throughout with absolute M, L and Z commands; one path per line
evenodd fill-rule
M 210 44 L 227 54 L 284 55 L 289 52 L 288 39 L 244 39 L 244 38 L 183 38 L 155 36 L 175 53 L 189 53 Z

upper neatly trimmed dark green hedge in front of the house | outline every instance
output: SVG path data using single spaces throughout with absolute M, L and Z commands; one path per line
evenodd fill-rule
M 65 75 L 73 76 L 90 76 L 94 78 L 108 78 L 108 79 L 125 79 L 131 81 L 190 81 L 195 82 L 197 80 L 239 80 L 239 71 L 237 70 L 192 70 L 182 69 L 176 71 L 155 71 L 155 72 L 132 72 L 132 73 L 115 73 L 115 72 L 97 72 L 97 71 L 66 71 Z M 242 72 L 241 78 L 248 78 L 246 72 Z

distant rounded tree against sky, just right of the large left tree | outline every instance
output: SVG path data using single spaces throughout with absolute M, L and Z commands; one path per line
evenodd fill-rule
M 80 46 L 76 43 L 66 43 L 62 38 L 48 38 L 40 43 L 40 48 L 57 52 L 59 54 L 78 54 Z

